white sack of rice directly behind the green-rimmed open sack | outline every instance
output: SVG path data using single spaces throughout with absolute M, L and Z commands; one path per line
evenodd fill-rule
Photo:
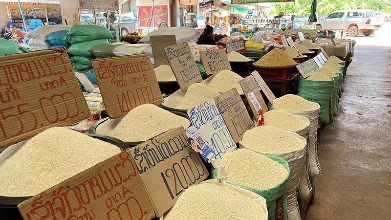
M 244 132 L 239 145 L 260 154 L 279 156 L 288 163 L 290 179 L 287 217 L 289 220 L 301 220 L 296 190 L 305 169 L 306 139 L 295 132 L 287 132 L 274 126 L 259 126 Z

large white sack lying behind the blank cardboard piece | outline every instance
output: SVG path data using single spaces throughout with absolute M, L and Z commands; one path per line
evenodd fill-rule
M 175 35 L 176 44 L 191 41 L 201 33 L 193 27 L 169 27 L 157 29 L 141 38 L 140 42 L 151 44 L 150 36 Z

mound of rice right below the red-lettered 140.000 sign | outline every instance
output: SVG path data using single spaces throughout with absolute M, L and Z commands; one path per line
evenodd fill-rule
M 179 126 L 186 129 L 190 121 L 155 105 L 144 104 L 130 110 L 122 118 L 105 121 L 97 127 L 96 132 L 135 142 L 148 140 Z

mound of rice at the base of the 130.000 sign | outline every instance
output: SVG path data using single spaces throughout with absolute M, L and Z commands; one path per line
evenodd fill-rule
M 179 89 L 167 96 L 164 98 L 164 103 L 162 105 L 172 109 L 189 110 L 202 102 L 213 99 L 219 94 L 219 92 L 202 83 L 195 83 L 187 88 L 186 93 L 183 93 Z

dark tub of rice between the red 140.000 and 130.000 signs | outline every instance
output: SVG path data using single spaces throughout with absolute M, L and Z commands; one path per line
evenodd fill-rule
M 156 80 L 161 93 L 171 94 L 179 89 L 173 70 L 169 65 L 160 65 L 155 68 Z

